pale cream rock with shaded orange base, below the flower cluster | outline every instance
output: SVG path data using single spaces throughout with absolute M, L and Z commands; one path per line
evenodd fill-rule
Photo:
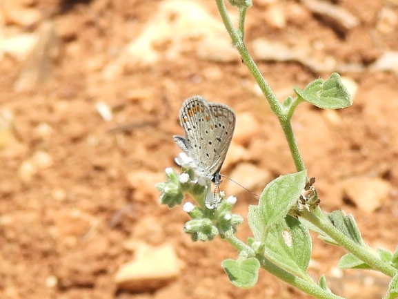
M 115 274 L 118 289 L 153 291 L 175 280 L 183 267 L 170 244 L 150 247 L 137 244 L 135 258 Z

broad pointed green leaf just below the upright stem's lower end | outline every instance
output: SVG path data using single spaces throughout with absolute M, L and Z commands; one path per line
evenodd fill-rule
M 259 200 L 259 214 L 265 224 L 265 233 L 280 222 L 294 206 L 306 186 L 307 172 L 281 175 L 270 182 Z

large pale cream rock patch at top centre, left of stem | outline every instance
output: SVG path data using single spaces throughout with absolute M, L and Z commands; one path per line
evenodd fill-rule
M 106 67 L 105 78 L 135 70 L 137 64 L 152 66 L 165 58 L 178 60 L 186 52 L 210 61 L 240 61 L 221 20 L 195 1 L 161 1 L 159 10 L 143 28 L 119 59 Z

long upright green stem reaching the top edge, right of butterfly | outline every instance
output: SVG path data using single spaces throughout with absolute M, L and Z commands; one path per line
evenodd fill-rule
M 235 30 L 232 21 L 228 15 L 226 10 L 226 6 L 223 0 L 215 0 L 217 3 L 217 8 L 219 10 L 221 19 L 223 20 L 224 26 L 226 26 L 226 30 L 232 39 L 232 43 L 235 45 L 239 54 L 241 55 L 241 59 L 243 63 L 248 67 L 248 70 L 252 74 L 253 78 L 257 82 L 259 88 L 261 89 L 263 95 L 266 96 L 268 104 L 270 104 L 270 108 L 277 115 L 281 127 L 283 129 L 283 133 L 286 136 L 286 140 L 288 141 L 288 145 L 290 148 L 290 152 L 292 153 L 293 160 L 295 162 L 295 166 L 297 171 L 303 171 L 305 169 L 303 159 L 300 155 L 299 147 L 297 146 L 297 141 L 295 138 L 295 134 L 293 133 L 292 126 L 290 124 L 290 118 L 286 117 L 286 113 L 283 110 L 282 105 L 278 102 L 277 97 L 272 90 L 266 80 L 264 80 L 263 76 L 255 61 L 253 61 L 252 57 L 250 56 L 248 49 L 246 48 L 245 44 L 243 43 L 243 39 L 241 36 L 243 35 L 243 31 L 241 34 L 237 33 Z M 243 15 L 243 16 L 242 16 Z M 239 17 L 239 29 L 244 29 L 244 20 L 245 20 L 246 11 L 243 12 L 241 10 L 241 16 Z

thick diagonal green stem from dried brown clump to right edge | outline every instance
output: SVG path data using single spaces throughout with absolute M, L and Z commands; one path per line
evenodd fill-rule
M 353 242 L 349 238 L 341 233 L 332 223 L 326 219 L 324 214 L 320 214 L 320 217 L 317 217 L 315 213 L 304 213 L 301 217 L 305 218 L 317 228 L 324 231 L 327 235 L 330 236 L 337 244 L 344 247 L 347 251 L 355 255 L 359 260 L 366 262 L 366 264 L 370 265 L 372 269 L 380 271 L 381 273 L 386 274 L 387 276 L 393 277 L 395 274 L 398 273 L 398 270 L 394 267 L 386 264 L 385 262 L 381 261 L 375 253 L 373 253 L 368 247 L 360 246 L 359 244 Z

